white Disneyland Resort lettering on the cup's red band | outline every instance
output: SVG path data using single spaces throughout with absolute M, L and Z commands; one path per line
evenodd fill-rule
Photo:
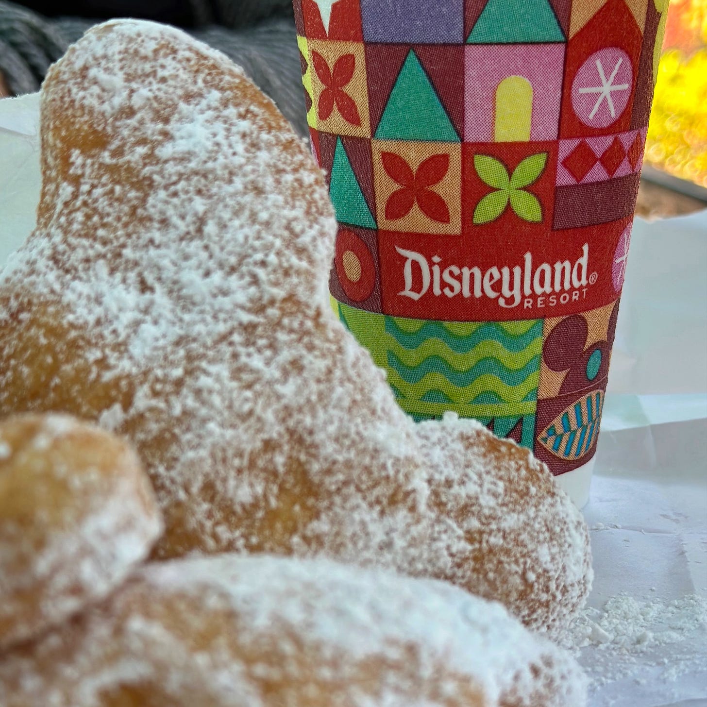
M 477 266 L 445 266 L 438 255 L 428 261 L 414 250 L 397 246 L 395 250 L 405 258 L 405 289 L 398 295 L 414 301 L 431 293 L 435 297 L 461 295 L 464 298 L 497 299 L 498 304 L 506 309 L 518 307 L 521 303 L 524 309 L 551 307 L 586 298 L 588 284 L 594 284 L 597 278 L 595 273 L 587 275 L 588 243 L 583 245 L 581 255 L 573 262 L 559 260 L 554 264 L 543 262 L 535 266 L 532 253 L 527 252 L 522 265 L 494 265 L 486 271 Z

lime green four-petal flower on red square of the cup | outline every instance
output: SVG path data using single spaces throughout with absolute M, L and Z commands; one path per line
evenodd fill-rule
M 489 155 L 474 155 L 474 167 L 484 184 L 496 191 L 479 201 L 474 209 L 474 224 L 495 221 L 501 216 L 508 202 L 516 216 L 530 223 L 542 222 L 542 206 L 535 194 L 525 191 L 525 187 L 537 182 L 547 165 L 547 152 L 526 157 L 508 177 L 506 165 Z

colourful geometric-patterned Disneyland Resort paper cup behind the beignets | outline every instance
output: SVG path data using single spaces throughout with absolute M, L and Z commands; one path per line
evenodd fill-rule
M 295 0 L 341 322 L 583 506 L 667 0 Z

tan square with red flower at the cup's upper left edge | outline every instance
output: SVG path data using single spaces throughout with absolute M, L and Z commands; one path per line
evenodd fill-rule
M 317 129 L 370 137 L 366 55 L 361 42 L 308 40 Z

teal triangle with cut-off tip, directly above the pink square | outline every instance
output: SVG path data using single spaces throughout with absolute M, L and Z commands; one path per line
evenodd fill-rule
M 489 0 L 467 40 L 469 44 L 564 41 L 547 0 Z

